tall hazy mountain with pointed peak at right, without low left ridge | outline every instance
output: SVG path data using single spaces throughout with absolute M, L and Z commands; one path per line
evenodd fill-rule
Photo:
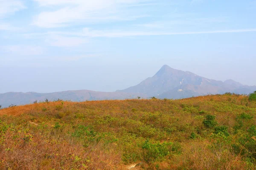
M 225 82 L 207 79 L 189 71 L 180 71 L 168 65 L 163 65 L 153 77 L 117 92 L 143 93 L 160 98 L 180 99 L 206 94 L 223 94 L 225 92 L 249 94 L 253 91 L 256 91 L 256 86 L 242 85 L 231 79 Z

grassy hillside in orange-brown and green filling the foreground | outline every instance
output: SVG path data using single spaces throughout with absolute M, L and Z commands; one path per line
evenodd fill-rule
M 248 96 L 228 94 L 6 108 L 0 169 L 255 169 L 255 114 Z

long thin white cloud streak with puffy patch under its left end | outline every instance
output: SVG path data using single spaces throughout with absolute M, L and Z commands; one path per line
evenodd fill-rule
M 215 30 L 215 31 L 184 31 L 184 32 L 168 32 L 168 31 L 121 31 L 121 30 L 93 30 L 89 28 L 84 28 L 82 31 L 78 32 L 64 32 L 64 31 L 55 31 L 55 32 L 47 32 L 47 33 L 39 33 L 39 34 L 24 34 L 23 36 L 26 38 L 37 37 L 39 39 L 43 39 L 44 36 L 52 36 L 61 37 L 66 39 L 67 44 L 63 42 L 63 44 L 57 40 L 55 42 L 50 42 L 53 46 L 77 46 L 87 42 L 87 38 L 97 38 L 97 37 L 105 37 L 105 38 L 120 38 L 120 37 L 136 37 L 136 36 L 162 36 L 162 35 L 191 35 L 191 34 L 224 34 L 224 33 L 245 33 L 245 32 L 256 32 L 256 28 L 252 29 L 229 29 L 229 30 Z M 68 37 L 66 37 L 68 36 Z M 68 44 L 68 39 L 70 38 L 70 44 Z M 85 38 L 85 39 L 84 39 Z M 73 42 L 71 42 L 73 40 Z M 75 42 L 75 41 L 78 42 Z M 59 42 L 60 44 L 58 44 Z

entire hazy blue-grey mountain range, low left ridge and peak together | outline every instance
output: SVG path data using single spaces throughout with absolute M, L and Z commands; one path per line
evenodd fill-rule
M 138 85 L 116 92 L 97 92 L 89 90 L 62 91 L 55 93 L 15 93 L 9 92 L 0 94 L 0 105 L 8 107 L 11 104 L 24 105 L 35 100 L 105 100 L 105 99 L 132 99 L 138 96 L 149 98 L 181 99 L 206 94 L 223 94 L 231 92 L 236 94 L 249 94 L 256 91 L 256 86 L 242 85 L 234 80 L 224 82 L 214 79 L 207 79 L 189 71 L 180 71 L 163 65 L 153 76 L 145 79 Z

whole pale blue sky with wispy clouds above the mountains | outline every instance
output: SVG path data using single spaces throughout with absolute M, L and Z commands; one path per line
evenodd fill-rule
M 0 93 L 116 91 L 163 65 L 256 85 L 256 0 L 0 0 Z

